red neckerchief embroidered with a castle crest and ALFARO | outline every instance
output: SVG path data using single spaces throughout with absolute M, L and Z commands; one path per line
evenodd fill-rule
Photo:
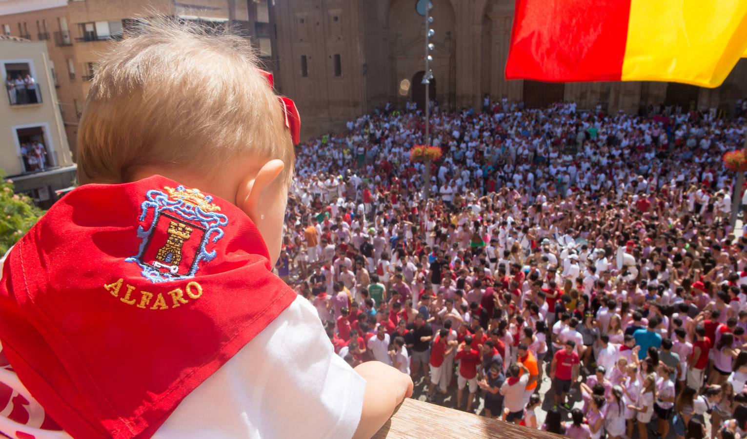
M 0 339 L 75 438 L 149 437 L 296 294 L 243 211 L 153 176 L 73 190 L 10 252 Z

